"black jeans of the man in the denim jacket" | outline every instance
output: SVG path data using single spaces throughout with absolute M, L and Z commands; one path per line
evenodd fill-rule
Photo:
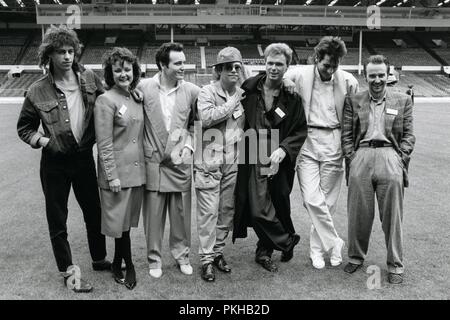
M 73 187 L 83 211 L 92 260 L 104 259 L 106 244 L 105 236 L 101 234 L 100 198 L 92 150 L 63 156 L 43 152 L 40 173 L 50 239 L 58 270 L 64 272 L 73 264 L 67 241 L 70 186 Z

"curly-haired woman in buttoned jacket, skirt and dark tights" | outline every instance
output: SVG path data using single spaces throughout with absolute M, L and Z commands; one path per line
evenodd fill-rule
M 97 98 L 94 109 L 102 233 L 115 238 L 114 280 L 131 290 L 136 286 L 136 273 L 130 228 L 138 226 L 145 184 L 142 94 L 135 90 L 140 68 L 126 48 L 113 48 L 104 56 L 103 65 L 109 90 Z

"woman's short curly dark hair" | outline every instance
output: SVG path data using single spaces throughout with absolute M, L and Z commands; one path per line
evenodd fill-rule
M 130 88 L 136 88 L 141 77 L 141 68 L 137 57 L 127 48 L 114 47 L 103 55 L 103 71 L 105 77 L 105 83 L 108 87 L 112 88 L 115 85 L 112 67 L 116 62 L 123 63 L 127 61 L 133 65 L 133 81 L 130 84 Z

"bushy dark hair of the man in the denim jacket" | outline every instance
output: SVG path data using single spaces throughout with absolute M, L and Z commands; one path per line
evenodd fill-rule
M 44 39 L 38 49 L 39 66 L 45 67 L 50 61 L 50 55 L 63 46 L 74 49 L 74 63 L 78 62 L 81 54 L 81 44 L 77 33 L 66 25 L 51 25 L 44 34 Z

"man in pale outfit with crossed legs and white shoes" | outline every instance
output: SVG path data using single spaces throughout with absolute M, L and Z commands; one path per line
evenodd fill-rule
M 322 269 L 328 251 L 332 266 L 342 263 L 344 241 L 336 232 L 332 215 L 343 178 L 342 110 L 345 95 L 355 93 L 358 82 L 339 69 L 347 53 L 340 38 L 323 37 L 314 52 L 314 65 L 292 68 L 285 78 L 294 81 L 308 122 L 308 137 L 297 158 L 297 175 L 303 205 L 312 221 L 310 258 L 314 268 Z

